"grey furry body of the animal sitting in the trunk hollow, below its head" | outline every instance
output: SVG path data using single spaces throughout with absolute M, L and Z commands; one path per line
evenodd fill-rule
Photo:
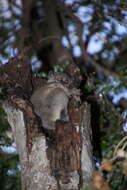
M 42 125 L 46 129 L 54 129 L 55 121 L 58 119 L 68 121 L 68 100 L 64 88 L 52 85 L 36 90 L 31 97 L 35 113 L 41 118 Z

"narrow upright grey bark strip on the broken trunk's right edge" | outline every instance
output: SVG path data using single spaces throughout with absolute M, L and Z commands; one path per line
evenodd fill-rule
M 92 157 L 92 129 L 90 122 L 90 105 L 84 102 L 82 107 L 82 121 L 81 121 L 81 171 L 83 187 L 89 186 L 91 182 L 91 174 L 93 172 L 93 157 Z

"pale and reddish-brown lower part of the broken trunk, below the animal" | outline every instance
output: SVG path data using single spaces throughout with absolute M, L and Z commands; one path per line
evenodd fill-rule
M 80 113 L 70 105 L 71 124 L 57 122 L 52 143 L 38 130 L 31 105 L 20 98 L 13 97 L 11 101 L 17 108 L 7 101 L 3 107 L 19 153 L 22 190 L 80 190 L 90 185 L 92 148 L 88 104 L 84 103 Z M 77 115 L 80 125 L 76 125 Z

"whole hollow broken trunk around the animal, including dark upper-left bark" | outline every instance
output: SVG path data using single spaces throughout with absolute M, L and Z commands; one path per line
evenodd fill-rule
M 54 89 L 65 89 L 69 94 L 69 119 L 59 118 L 54 122 L 53 130 L 45 130 L 35 114 L 30 94 L 37 82 L 41 88 L 49 84 L 38 78 L 36 83 L 31 82 L 30 68 L 26 65 L 25 57 L 12 58 L 3 66 L 4 73 L 0 76 L 1 86 L 8 89 L 3 108 L 19 153 L 22 190 L 79 190 L 88 186 L 92 175 L 90 106 L 87 102 L 81 103 L 80 92 L 71 82 L 69 84 L 70 78 L 69 85 L 63 84 L 60 77 L 64 78 L 64 75 L 59 73 L 57 82 L 51 85 Z M 27 74 L 23 75 L 24 72 Z M 21 77 L 22 80 L 17 80 Z M 52 98 L 51 95 L 51 102 Z M 57 98 L 59 100 L 56 93 Z

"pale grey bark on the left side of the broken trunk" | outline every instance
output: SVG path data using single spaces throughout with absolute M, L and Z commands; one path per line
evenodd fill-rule
M 58 189 L 56 180 L 54 176 L 51 175 L 50 164 L 46 153 L 46 138 L 43 133 L 37 132 L 38 126 L 36 121 L 34 121 L 36 119 L 34 113 L 28 105 L 25 105 L 26 103 L 22 99 L 14 99 L 13 101 L 18 101 L 17 104 L 20 104 L 20 109 L 27 107 L 25 108 L 26 110 L 22 112 L 19 108 L 16 109 L 7 102 L 3 105 L 7 113 L 8 121 L 12 127 L 19 153 L 22 190 L 56 190 Z M 30 113 L 26 115 L 25 111 Z M 28 121 L 26 121 L 26 117 L 30 120 L 29 124 Z M 34 131 L 30 131 L 30 127 L 31 129 L 34 128 Z

